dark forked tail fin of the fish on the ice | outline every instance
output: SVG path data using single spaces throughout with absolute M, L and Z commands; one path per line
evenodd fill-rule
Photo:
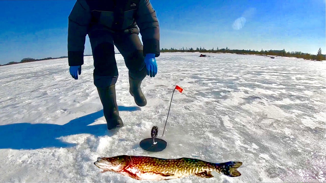
M 241 173 L 237 170 L 242 165 L 242 162 L 224 162 L 224 163 L 216 163 L 216 170 L 223 175 L 236 177 L 241 176 Z

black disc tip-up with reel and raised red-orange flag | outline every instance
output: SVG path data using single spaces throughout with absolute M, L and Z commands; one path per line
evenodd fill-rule
M 174 93 L 175 90 L 180 91 L 180 93 L 183 91 L 183 89 L 181 87 L 179 87 L 178 85 L 174 88 L 173 93 Z M 173 98 L 173 93 L 172 93 L 172 98 Z M 172 103 L 172 98 L 171 98 L 171 102 L 170 102 L 170 107 L 171 107 L 171 103 Z M 165 121 L 165 126 L 166 126 L 166 123 L 168 121 L 168 117 L 169 117 L 169 113 L 170 113 L 170 107 L 169 107 L 168 116 L 167 116 L 166 121 Z M 162 137 L 164 135 L 165 126 L 164 126 Z M 158 151 L 164 150 L 167 147 L 168 143 L 165 140 L 156 138 L 157 134 L 158 134 L 158 128 L 157 128 L 157 126 L 153 126 L 152 130 L 151 130 L 151 137 L 152 138 L 143 139 L 139 143 L 140 147 L 143 148 L 146 151 L 151 151 L 151 152 L 158 152 Z

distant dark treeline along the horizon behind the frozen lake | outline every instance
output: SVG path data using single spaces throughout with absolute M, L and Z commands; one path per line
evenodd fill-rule
M 309 53 L 303 53 L 301 51 L 291 51 L 291 52 L 286 52 L 285 49 L 283 50 L 263 50 L 261 49 L 260 51 L 256 51 L 256 50 L 240 50 L 240 49 L 229 49 L 228 47 L 223 48 L 223 49 L 218 49 L 218 47 L 216 49 L 205 49 L 203 48 L 196 48 L 193 49 L 191 48 L 180 48 L 180 49 L 175 49 L 175 48 L 170 48 L 170 49 L 161 49 L 161 52 L 208 52 L 208 53 L 238 53 L 238 54 L 258 54 L 258 55 L 274 55 L 274 56 L 284 56 L 284 57 L 296 57 L 296 58 L 303 58 L 306 60 L 318 60 L 318 61 L 322 61 L 322 60 L 326 60 L 326 55 L 325 54 L 321 54 L 321 48 L 319 48 L 318 52 L 316 55 L 313 54 L 309 54 Z M 119 54 L 119 53 L 115 53 L 115 54 Z M 92 55 L 84 55 L 84 56 L 92 56 Z M 52 58 L 52 57 L 48 57 L 48 58 L 43 58 L 43 59 L 33 59 L 33 58 L 23 58 L 20 62 L 9 62 L 7 64 L 4 65 L 11 65 L 11 64 L 16 64 L 16 63 L 25 63 L 25 62 L 35 62 L 35 61 L 41 61 L 41 60 L 50 60 L 50 59 L 60 59 L 60 58 L 67 58 L 67 56 L 62 56 L 62 57 L 58 57 L 58 58 Z M 3 66 L 0 64 L 0 66 Z

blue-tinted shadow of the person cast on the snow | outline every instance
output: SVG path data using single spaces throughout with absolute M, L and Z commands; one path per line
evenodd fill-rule
M 141 110 L 138 106 L 118 107 L 119 111 Z M 103 116 L 103 110 L 100 110 L 71 120 L 64 125 L 46 123 L 14 123 L 0 125 L 0 149 L 67 148 L 74 147 L 76 144 L 63 142 L 57 138 L 75 134 L 112 136 L 115 134 L 115 131 L 108 132 L 106 123 L 89 125 Z

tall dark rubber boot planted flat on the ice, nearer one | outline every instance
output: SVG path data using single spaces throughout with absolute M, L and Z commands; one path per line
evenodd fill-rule
M 119 116 L 118 105 L 115 95 L 115 85 L 106 88 L 97 88 L 98 95 L 103 105 L 103 113 L 109 130 L 124 127 Z

